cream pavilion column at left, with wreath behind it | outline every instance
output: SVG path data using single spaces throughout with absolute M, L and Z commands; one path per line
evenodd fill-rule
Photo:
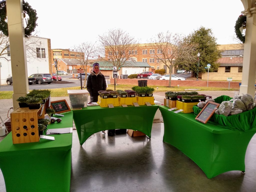
M 8 32 L 13 76 L 13 109 L 19 107 L 16 99 L 28 92 L 28 72 L 25 46 L 22 0 L 7 0 Z

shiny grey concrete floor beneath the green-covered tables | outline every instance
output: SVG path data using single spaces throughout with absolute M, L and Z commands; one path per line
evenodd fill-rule
M 159 123 L 153 123 L 151 139 L 128 134 L 104 138 L 98 132 L 80 146 L 74 131 L 70 191 L 256 191 L 256 135 L 246 152 L 245 174 L 231 171 L 208 179 L 186 155 L 163 142 L 164 123 L 154 121 Z M 1 172 L 0 191 L 5 192 Z

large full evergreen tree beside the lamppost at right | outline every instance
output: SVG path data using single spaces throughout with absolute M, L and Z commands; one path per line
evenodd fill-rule
M 219 64 L 216 63 L 216 61 L 221 57 L 221 50 L 218 49 L 216 38 L 213 36 L 211 29 L 201 26 L 198 30 L 195 30 L 193 33 L 185 37 L 184 43 L 197 44 L 197 49 L 195 49 L 193 55 L 197 57 L 198 52 L 200 53 L 199 67 L 198 62 L 188 63 L 177 58 L 176 64 L 179 69 L 191 70 L 196 73 L 198 67 L 199 72 L 206 72 L 208 69 L 205 69 L 205 67 L 210 63 L 211 68 L 209 69 L 209 72 L 218 70 Z

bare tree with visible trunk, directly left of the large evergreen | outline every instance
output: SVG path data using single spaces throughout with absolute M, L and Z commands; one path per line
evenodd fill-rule
M 188 65 L 196 61 L 196 57 L 192 54 L 196 45 L 187 45 L 182 39 L 181 35 L 172 34 L 169 31 L 166 34 L 163 32 L 158 33 L 155 38 L 151 39 L 151 46 L 157 49 L 157 51 L 153 52 L 152 57 L 159 59 L 169 69 L 170 79 L 168 87 L 171 87 L 172 70 L 174 66 L 177 66 L 175 61 L 178 58 L 186 61 Z

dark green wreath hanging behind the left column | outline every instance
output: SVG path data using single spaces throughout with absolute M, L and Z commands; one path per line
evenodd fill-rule
M 23 1 L 23 13 L 29 16 L 26 20 L 27 27 L 25 27 L 25 37 L 31 36 L 31 33 L 35 31 L 37 26 L 37 14 L 36 10 L 32 9 L 28 2 Z M 6 1 L 0 2 L 0 30 L 4 33 L 4 35 L 9 36 L 8 33 L 8 25 L 6 22 Z

